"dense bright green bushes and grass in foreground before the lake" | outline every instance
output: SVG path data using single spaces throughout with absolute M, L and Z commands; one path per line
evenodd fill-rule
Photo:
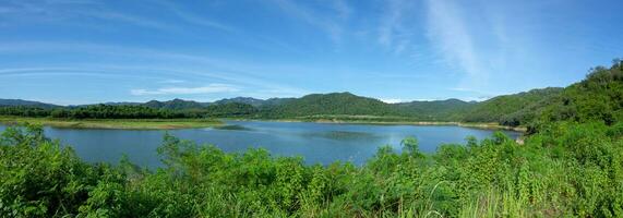
M 166 135 L 165 168 L 89 165 L 40 128 L 0 137 L 3 217 L 621 217 L 623 124 L 560 122 L 518 145 L 502 133 L 362 167 L 227 154 Z

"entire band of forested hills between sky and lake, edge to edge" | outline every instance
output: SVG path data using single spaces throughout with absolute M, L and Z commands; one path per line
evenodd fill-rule
M 19 106 L 19 108 L 10 106 Z M 119 108 L 112 106 L 119 106 Z M 328 93 L 266 100 L 250 97 L 226 98 L 214 102 L 172 99 L 151 100 L 144 104 L 98 104 L 87 109 L 80 107 L 0 99 L 0 112 L 4 111 L 2 114 L 9 116 L 38 114 L 45 117 L 59 112 L 75 112 L 71 111 L 73 109 L 91 109 L 93 110 L 91 112 L 96 116 L 122 110 L 191 118 L 495 122 L 511 126 L 527 126 L 530 131 L 538 129 L 542 123 L 553 121 L 601 121 L 604 124 L 623 121 L 623 61 L 616 60 L 610 68 L 595 68 L 585 80 L 564 88 L 531 89 L 496 96 L 480 102 L 451 98 L 387 104 L 351 93 Z M 46 110 L 56 108 L 65 108 L 68 111 Z

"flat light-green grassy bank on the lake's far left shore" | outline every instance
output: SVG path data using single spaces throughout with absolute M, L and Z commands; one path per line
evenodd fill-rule
M 116 129 L 116 130 L 175 130 L 219 126 L 223 122 L 212 119 L 97 119 L 65 120 L 51 118 L 0 117 L 0 123 L 32 123 L 53 128 Z

